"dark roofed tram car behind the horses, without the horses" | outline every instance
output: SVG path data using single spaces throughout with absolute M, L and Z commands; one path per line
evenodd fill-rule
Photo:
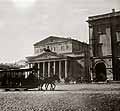
M 0 88 L 9 90 L 14 89 L 31 89 L 38 87 L 39 75 L 31 69 L 11 69 L 0 71 Z

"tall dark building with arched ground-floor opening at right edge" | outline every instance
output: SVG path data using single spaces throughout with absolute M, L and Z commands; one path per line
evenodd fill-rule
M 91 77 L 120 80 L 120 11 L 90 16 Z

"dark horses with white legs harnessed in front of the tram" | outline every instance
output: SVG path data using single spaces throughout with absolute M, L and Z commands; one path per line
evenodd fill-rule
M 45 85 L 45 89 L 47 90 L 48 89 L 48 86 L 50 85 L 50 90 L 54 90 L 56 85 L 55 85 L 55 82 L 59 82 L 60 79 L 59 79 L 59 76 L 58 75 L 52 75 L 50 77 L 46 77 L 46 78 L 40 78 L 39 79 L 39 90 L 43 90 L 42 87 L 43 85 Z

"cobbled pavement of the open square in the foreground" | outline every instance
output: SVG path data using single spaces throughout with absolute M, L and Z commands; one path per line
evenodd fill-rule
M 120 84 L 57 84 L 55 91 L 0 91 L 0 111 L 120 111 Z

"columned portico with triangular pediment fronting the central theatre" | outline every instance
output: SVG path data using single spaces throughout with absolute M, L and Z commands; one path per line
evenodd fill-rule
M 60 80 L 68 77 L 70 58 L 53 52 L 44 52 L 39 56 L 29 57 L 29 68 L 38 68 L 38 76 L 59 75 Z

